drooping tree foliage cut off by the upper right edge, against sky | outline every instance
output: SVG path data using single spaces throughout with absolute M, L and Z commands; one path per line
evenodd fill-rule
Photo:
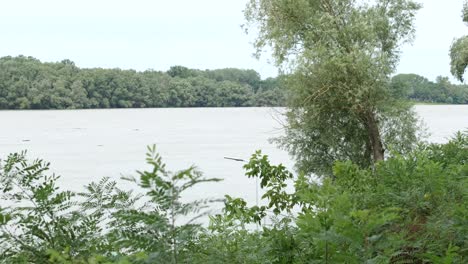
M 468 23 L 468 1 L 464 2 L 463 22 Z M 468 36 L 456 39 L 450 47 L 450 71 L 455 78 L 463 82 L 463 74 L 468 67 Z

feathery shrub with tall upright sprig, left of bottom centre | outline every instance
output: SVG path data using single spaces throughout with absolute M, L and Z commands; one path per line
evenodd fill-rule
M 148 199 L 141 208 L 127 207 L 112 214 L 108 228 L 109 236 L 116 242 L 113 248 L 121 255 L 145 253 L 149 260 L 185 262 L 187 243 L 200 231 L 195 220 L 205 215 L 207 205 L 216 200 L 182 202 L 182 193 L 197 184 L 219 179 L 203 178 L 195 167 L 168 172 L 154 146 L 148 149 L 147 162 L 152 170 L 138 172 L 139 179 L 129 180 L 145 190 Z M 91 201 L 99 204 L 99 199 L 94 201 L 94 194 L 99 192 L 89 193 L 93 197 Z M 178 219 L 181 217 L 189 218 Z M 185 224 L 178 225 L 177 220 Z

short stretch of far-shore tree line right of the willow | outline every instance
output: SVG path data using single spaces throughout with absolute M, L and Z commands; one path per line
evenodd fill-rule
M 392 88 L 413 101 L 468 104 L 468 85 L 452 84 L 447 77 L 431 82 L 417 74 L 398 74 L 392 78 Z

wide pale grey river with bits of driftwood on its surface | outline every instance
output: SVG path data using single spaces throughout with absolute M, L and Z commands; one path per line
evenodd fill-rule
M 468 105 L 415 107 L 430 134 L 444 142 L 468 128 Z M 193 190 L 190 198 L 230 194 L 255 202 L 255 181 L 243 176 L 242 162 L 258 149 L 288 168 L 288 154 L 269 143 L 282 135 L 282 109 L 179 108 L 64 111 L 0 111 L 0 157 L 28 150 L 51 162 L 61 187 L 80 191 L 103 176 L 135 175 L 145 164 L 146 146 L 156 144 L 170 170 L 196 165 L 206 177 L 223 178 Z M 123 182 L 127 186 L 128 183 Z

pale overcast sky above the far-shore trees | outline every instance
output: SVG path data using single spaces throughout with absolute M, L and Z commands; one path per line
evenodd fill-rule
M 463 0 L 420 0 L 416 39 L 399 73 L 448 76 L 448 50 L 468 34 Z M 249 68 L 275 76 L 268 56 L 252 57 L 244 34 L 247 0 L 1 0 L 0 56 L 70 59 L 80 67 L 167 70 Z

